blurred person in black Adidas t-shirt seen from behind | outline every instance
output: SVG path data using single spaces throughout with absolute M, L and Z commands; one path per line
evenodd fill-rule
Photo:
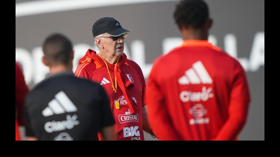
M 49 75 L 26 96 L 24 114 L 28 140 L 116 140 L 115 122 L 100 84 L 72 72 L 73 47 L 62 34 L 43 43 L 42 62 Z

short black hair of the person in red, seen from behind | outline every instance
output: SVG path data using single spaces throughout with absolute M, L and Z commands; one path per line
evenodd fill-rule
M 208 6 L 202 0 L 181 0 L 174 11 L 175 23 L 180 27 L 199 29 L 209 18 Z

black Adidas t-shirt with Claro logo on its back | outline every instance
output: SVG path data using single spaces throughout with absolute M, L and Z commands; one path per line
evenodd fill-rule
M 103 87 L 73 73 L 59 73 L 26 96 L 26 136 L 38 140 L 98 140 L 101 128 L 114 124 Z

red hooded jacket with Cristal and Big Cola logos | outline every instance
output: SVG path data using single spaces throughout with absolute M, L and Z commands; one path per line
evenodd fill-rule
M 106 63 L 115 86 L 115 65 L 107 61 Z M 119 140 L 144 140 L 142 107 L 146 84 L 137 63 L 127 59 L 125 54 L 119 57 L 116 66 L 117 98 L 105 62 L 95 51 L 88 49 L 86 55 L 79 61 L 75 76 L 95 81 L 104 87 L 116 122 Z M 116 109 L 115 101 L 119 101 L 119 109 Z

